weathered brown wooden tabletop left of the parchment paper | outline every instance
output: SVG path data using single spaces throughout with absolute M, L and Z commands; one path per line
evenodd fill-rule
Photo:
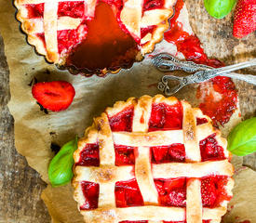
M 15 149 L 9 98 L 7 60 L 0 36 L 0 222 L 47 223 L 50 216 L 40 198 L 46 183 Z

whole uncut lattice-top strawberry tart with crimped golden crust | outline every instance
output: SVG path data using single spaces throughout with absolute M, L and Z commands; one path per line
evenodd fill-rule
M 74 199 L 89 223 L 216 223 L 232 198 L 226 140 L 177 98 L 108 108 L 74 152 Z

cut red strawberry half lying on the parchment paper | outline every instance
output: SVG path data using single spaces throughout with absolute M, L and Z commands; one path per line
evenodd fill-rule
M 73 101 L 74 86 L 65 81 L 41 82 L 33 85 L 33 97 L 45 109 L 53 112 L 66 110 Z

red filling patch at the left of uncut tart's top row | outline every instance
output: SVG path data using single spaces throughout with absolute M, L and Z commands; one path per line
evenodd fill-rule
M 109 117 L 109 125 L 113 132 L 126 131 L 131 132 L 133 120 L 133 106 Z

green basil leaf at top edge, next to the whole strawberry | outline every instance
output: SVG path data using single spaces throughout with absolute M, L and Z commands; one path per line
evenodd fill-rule
M 235 6 L 236 0 L 204 0 L 210 16 L 216 19 L 224 18 Z

